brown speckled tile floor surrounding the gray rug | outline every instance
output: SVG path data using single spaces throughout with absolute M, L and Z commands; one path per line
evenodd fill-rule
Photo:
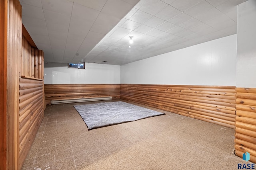
M 232 154 L 234 129 L 165 112 L 88 131 L 73 106 L 47 106 L 22 170 L 234 170 L 245 163 Z

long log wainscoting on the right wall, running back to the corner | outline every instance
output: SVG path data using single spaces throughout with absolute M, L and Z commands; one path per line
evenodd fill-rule
M 235 86 L 121 84 L 120 98 L 235 128 Z

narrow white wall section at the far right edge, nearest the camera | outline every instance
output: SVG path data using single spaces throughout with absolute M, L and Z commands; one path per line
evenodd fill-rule
M 238 5 L 236 86 L 256 88 L 256 0 Z

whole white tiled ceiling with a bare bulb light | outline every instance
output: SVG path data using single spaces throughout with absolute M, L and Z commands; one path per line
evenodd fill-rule
M 45 62 L 115 65 L 235 34 L 245 1 L 20 0 L 22 23 Z

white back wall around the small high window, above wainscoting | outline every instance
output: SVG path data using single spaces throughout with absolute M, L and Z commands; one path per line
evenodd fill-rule
M 44 84 L 120 84 L 120 66 L 85 63 L 86 69 L 68 64 L 44 64 Z

